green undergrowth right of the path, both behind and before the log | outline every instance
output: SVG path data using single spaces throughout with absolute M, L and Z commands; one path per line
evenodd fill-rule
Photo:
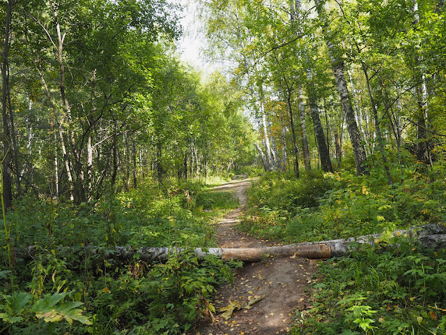
M 240 229 L 293 243 L 446 221 L 445 163 L 402 177 L 403 184 L 388 186 L 381 168 L 369 177 L 266 174 L 249 190 Z M 446 334 L 445 249 L 391 242 L 397 247 L 357 246 L 321 265 L 312 306 L 297 312 L 292 334 Z

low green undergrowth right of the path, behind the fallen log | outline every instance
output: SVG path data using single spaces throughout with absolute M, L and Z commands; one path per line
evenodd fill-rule
M 443 165 L 429 174 L 406 169 L 404 183 L 392 186 L 379 167 L 369 177 L 266 174 L 249 191 L 240 228 L 270 239 L 321 241 L 445 221 Z

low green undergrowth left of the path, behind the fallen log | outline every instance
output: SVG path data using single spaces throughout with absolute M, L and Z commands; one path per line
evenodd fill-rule
M 150 181 L 118 193 L 112 202 L 103 199 L 78 207 L 57 200 L 17 202 L 8 214 L 11 239 L 16 246 L 48 249 L 79 244 L 208 246 L 208 220 L 238 205 L 231 193 L 208 192 L 200 182 L 178 184 L 171 179 L 167 185 L 168 194 Z

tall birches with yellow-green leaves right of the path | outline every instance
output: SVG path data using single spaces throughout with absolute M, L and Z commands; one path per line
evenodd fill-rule
M 341 167 L 353 152 L 357 174 L 378 159 L 392 184 L 403 148 L 432 165 L 445 133 L 443 1 L 204 2 L 210 50 L 235 64 L 266 170 L 332 171 L 330 158 Z

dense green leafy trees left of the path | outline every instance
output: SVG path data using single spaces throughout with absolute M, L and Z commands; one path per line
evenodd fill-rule
M 252 154 L 222 75 L 176 59 L 180 8 L 165 0 L 3 1 L 3 188 L 100 198 L 142 177 L 221 171 Z

